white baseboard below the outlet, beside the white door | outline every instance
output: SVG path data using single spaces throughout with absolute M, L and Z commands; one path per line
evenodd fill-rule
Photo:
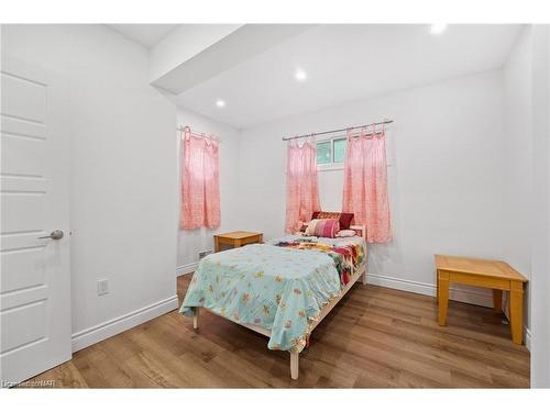
M 170 312 L 177 309 L 177 296 L 174 296 L 87 330 L 74 333 L 73 353 Z

